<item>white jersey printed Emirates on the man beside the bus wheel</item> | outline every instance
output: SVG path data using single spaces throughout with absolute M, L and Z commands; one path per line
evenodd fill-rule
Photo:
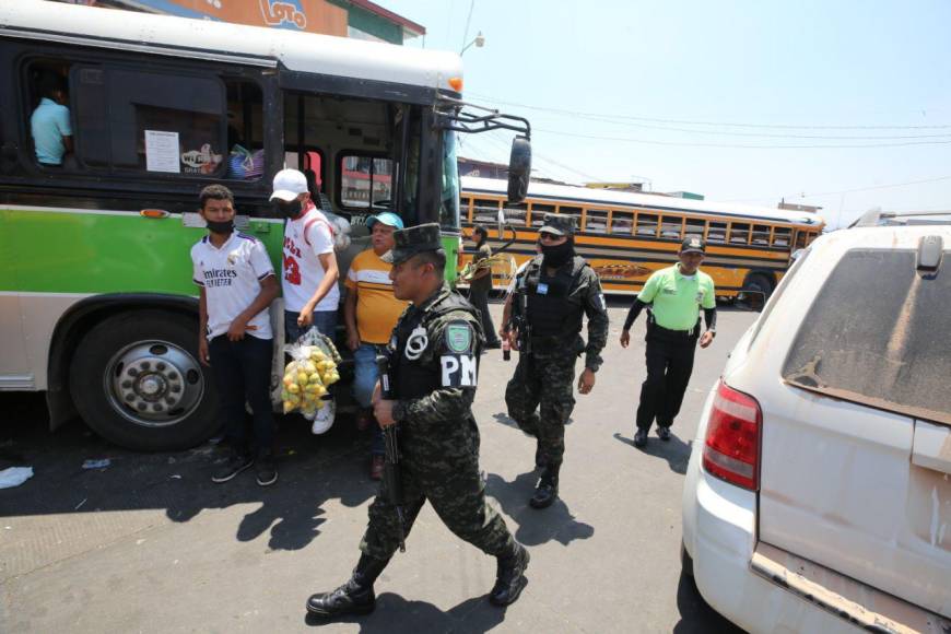
M 221 248 L 204 236 L 191 247 L 195 283 L 204 287 L 208 306 L 208 339 L 227 332 L 234 318 L 261 292 L 261 280 L 274 274 L 265 246 L 249 235 L 232 232 Z M 261 310 L 248 321 L 247 333 L 271 339 L 271 319 Z

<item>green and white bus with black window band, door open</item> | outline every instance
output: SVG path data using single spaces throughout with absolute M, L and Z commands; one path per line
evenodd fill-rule
M 234 191 L 238 226 L 265 243 L 275 270 L 283 224 L 268 198 L 284 166 L 304 171 L 356 227 L 384 209 L 408 225 L 439 222 L 456 262 L 456 133 L 519 133 L 516 198 L 530 165 L 528 122 L 468 114 L 461 70 L 451 52 L 2 3 L 0 390 L 45 390 L 52 427 L 79 413 L 130 448 L 209 437 L 218 416 L 197 361 L 189 262 L 204 233 L 200 189 Z M 59 164 L 31 126 L 51 84 L 71 131 Z M 354 242 L 351 250 L 365 245 Z

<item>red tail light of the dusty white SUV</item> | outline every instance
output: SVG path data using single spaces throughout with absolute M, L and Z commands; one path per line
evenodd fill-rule
M 762 426 L 760 403 L 720 380 L 704 438 L 704 470 L 737 486 L 756 491 Z

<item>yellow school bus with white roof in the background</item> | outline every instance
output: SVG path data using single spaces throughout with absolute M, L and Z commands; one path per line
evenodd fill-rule
M 718 296 L 735 297 L 741 291 L 768 295 L 792 255 L 824 226 L 820 216 L 805 211 L 565 185 L 531 183 L 528 197 L 518 204 L 506 201 L 505 180 L 462 177 L 461 189 L 465 233 L 484 225 L 493 250 L 514 238 L 504 253 L 516 265 L 535 255 L 545 213 L 574 216 L 577 253 L 598 272 L 604 292 L 614 294 L 637 294 L 651 272 L 678 261 L 685 235 L 700 234 L 707 243 L 702 268 L 713 278 Z M 502 219 L 506 230 L 500 236 Z M 460 267 L 472 258 L 471 244 L 466 247 Z M 493 271 L 496 287 L 507 284 L 512 267 L 501 269 L 505 274 Z

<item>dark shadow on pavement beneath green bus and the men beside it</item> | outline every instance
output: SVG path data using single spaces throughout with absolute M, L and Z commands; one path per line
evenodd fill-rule
M 236 540 L 270 531 L 271 549 L 298 550 L 320 533 L 326 502 L 359 506 L 378 486 L 368 479 L 369 436 L 357 433 L 350 418 L 314 436 L 303 419 L 278 416 L 280 477 L 262 488 L 254 469 L 223 484 L 211 482 L 214 462 L 223 457 L 213 443 L 139 454 L 108 444 L 79 421 L 51 433 L 42 395 L 0 395 L 0 411 L 8 412 L 0 428 L 0 469 L 34 470 L 24 484 L 0 490 L 0 516 L 164 508 L 171 520 L 186 523 L 206 508 L 250 504 Z M 86 460 L 103 459 L 107 467 L 83 468 Z

